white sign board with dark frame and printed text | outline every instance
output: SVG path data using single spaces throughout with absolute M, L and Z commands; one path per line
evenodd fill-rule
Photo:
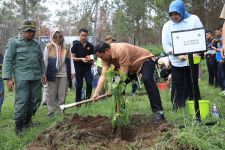
M 205 30 L 203 28 L 174 31 L 171 36 L 174 55 L 206 51 Z

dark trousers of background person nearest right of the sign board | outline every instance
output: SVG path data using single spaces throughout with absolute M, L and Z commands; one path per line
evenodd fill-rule
M 206 64 L 208 68 L 208 83 L 209 85 L 217 86 L 218 78 L 217 78 L 217 62 L 215 55 L 208 55 L 206 59 Z

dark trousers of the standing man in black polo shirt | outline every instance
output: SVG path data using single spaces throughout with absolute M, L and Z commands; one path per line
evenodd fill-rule
M 76 70 L 76 102 L 81 101 L 81 92 L 83 87 L 83 79 L 85 78 L 86 82 L 86 97 L 85 99 L 89 99 L 91 97 L 92 93 L 92 81 L 93 76 L 91 73 L 91 67 L 85 67 L 85 68 L 75 68 Z

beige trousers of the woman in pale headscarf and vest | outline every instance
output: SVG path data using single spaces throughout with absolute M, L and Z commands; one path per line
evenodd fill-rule
M 48 114 L 55 111 L 56 105 L 65 103 L 66 93 L 68 90 L 67 77 L 56 77 L 55 81 L 48 81 L 49 100 L 47 101 Z

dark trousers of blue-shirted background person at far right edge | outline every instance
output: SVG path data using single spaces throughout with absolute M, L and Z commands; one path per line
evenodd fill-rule
M 224 62 L 218 62 L 217 64 L 217 77 L 218 83 L 222 91 L 225 90 L 225 64 Z

